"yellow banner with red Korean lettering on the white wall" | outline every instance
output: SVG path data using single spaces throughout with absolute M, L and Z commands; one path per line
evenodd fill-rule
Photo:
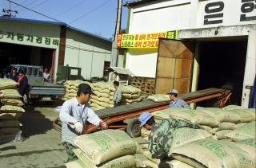
M 177 39 L 178 30 L 157 33 L 118 34 L 118 48 L 158 48 L 159 38 Z

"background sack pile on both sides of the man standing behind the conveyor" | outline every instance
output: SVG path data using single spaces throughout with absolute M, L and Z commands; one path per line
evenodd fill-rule
M 133 86 L 120 86 L 122 90 L 122 104 L 132 104 L 142 100 L 142 91 Z M 108 82 L 93 84 L 95 96 L 90 97 L 90 107 L 94 110 L 114 107 L 114 85 Z

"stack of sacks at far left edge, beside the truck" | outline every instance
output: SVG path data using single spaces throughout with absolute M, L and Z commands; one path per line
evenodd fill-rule
M 25 110 L 14 80 L 0 78 L 0 143 L 21 140 L 18 119 Z

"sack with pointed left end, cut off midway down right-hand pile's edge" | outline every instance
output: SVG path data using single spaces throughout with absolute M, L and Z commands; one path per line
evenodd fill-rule
M 226 135 L 227 138 L 232 139 L 233 141 L 244 140 L 244 139 L 255 139 L 256 138 L 256 129 L 255 121 L 247 123 L 238 129 L 231 131 Z

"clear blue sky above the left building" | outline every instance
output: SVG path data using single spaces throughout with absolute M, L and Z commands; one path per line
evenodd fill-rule
M 63 21 L 75 28 L 97 34 L 102 37 L 113 37 L 118 0 L 12 0 L 39 13 Z M 123 3 L 126 0 L 123 0 Z M 0 10 L 9 9 L 7 0 L 0 0 Z M 10 5 L 17 10 L 16 18 L 28 18 L 53 21 L 21 6 Z M 2 15 L 3 13 L 0 13 Z M 122 29 L 126 28 L 128 10 L 122 7 Z

